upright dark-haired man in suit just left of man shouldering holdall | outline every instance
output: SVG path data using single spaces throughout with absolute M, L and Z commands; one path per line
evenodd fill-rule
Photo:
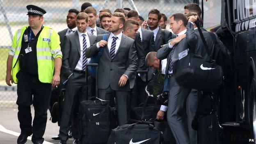
M 174 37 L 174 35 L 168 30 L 162 30 L 158 23 L 161 21 L 161 13 L 158 9 L 152 9 L 149 11 L 148 18 L 142 23 L 142 27 L 153 31 L 155 49 L 153 51 L 158 51 L 162 45 L 168 43 L 168 41 Z

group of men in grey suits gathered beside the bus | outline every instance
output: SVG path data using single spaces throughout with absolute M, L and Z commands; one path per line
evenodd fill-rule
M 194 23 L 201 19 L 199 5 L 186 5 L 184 13 L 171 15 L 171 30 L 165 30 L 167 17 L 158 9 L 149 11 L 146 20 L 137 11 L 122 8 L 113 14 L 109 9 L 103 9 L 98 19 L 96 9 L 88 2 L 82 5 L 81 11 L 69 10 L 66 17 L 68 28 L 58 32 L 63 53 L 62 84 L 59 87 L 66 89 L 59 144 L 66 144 L 71 121 L 73 143 L 78 144 L 78 103 L 96 96 L 95 79 L 92 76 L 88 82 L 85 79 L 86 64 L 101 47 L 104 47 L 104 52 L 98 63 L 98 96 L 117 106 L 119 126 L 129 119 L 130 108 L 146 99 L 146 75 L 136 71 L 148 71 L 149 80 L 155 71 L 159 71 L 168 81 L 165 87 L 169 92 L 169 104 L 161 106 L 156 119 L 163 119 L 167 113 L 176 143 L 197 144 L 197 132 L 191 127 L 197 110 L 197 90 L 176 83 L 172 64 L 187 48 L 205 59 L 209 57 Z M 107 34 L 106 40 L 103 40 L 103 34 Z M 203 29 L 203 35 L 213 53 L 214 43 L 210 34 Z M 217 35 L 216 38 L 222 43 Z M 86 85 L 89 85 L 88 95 Z

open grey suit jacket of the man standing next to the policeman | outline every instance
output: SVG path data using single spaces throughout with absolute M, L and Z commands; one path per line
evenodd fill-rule
M 90 44 L 92 45 L 97 39 L 96 36 L 88 33 Z M 62 82 L 64 82 L 71 73 L 80 59 L 80 42 L 78 32 L 64 36 L 64 50 L 62 51 Z

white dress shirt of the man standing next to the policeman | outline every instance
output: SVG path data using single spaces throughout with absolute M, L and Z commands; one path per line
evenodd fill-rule
M 82 58 L 83 58 L 83 39 L 84 37 L 82 36 L 82 34 L 85 34 L 85 39 L 86 39 L 86 43 L 87 43 L 87 48 L 90 47 L 90 40 L 89 40 L 89 36 L 87 34 L 87 32 L 82 33 L 78 31 L 78 36 L 79 36 L 79 42 L 80 42 L 80 59 L 78 60 L 78 63 L 75 66 L 75 70 L 81 71 L 82 70 Z M 87 62 L 90 62 L 90 58 L 87 57 Z

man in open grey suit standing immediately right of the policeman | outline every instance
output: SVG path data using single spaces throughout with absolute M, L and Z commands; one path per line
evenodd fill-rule
M 85 56 L 85 50 L 96 40 L 96 36 L 87 33 L 87 23 L 88 15 L 84 12 L 79 13 L 76 18 L 78 31 L 64 37 L 62 82 L 68 81 L 65 85 L 66 94 L 59 128 L 59 138 L 61 140 L 59 144 L 66 144 L 68 139 L 68 128 L 76 101 L 80 102 L 86 99 L 85 65 L 90 61 L 90 58 Z M 74 129 L 78 129 L 77 117 L 73 119 L 73 123 Z M 78 132 L 73 132 L 73 137 L 73 144 L 78 144 Z

